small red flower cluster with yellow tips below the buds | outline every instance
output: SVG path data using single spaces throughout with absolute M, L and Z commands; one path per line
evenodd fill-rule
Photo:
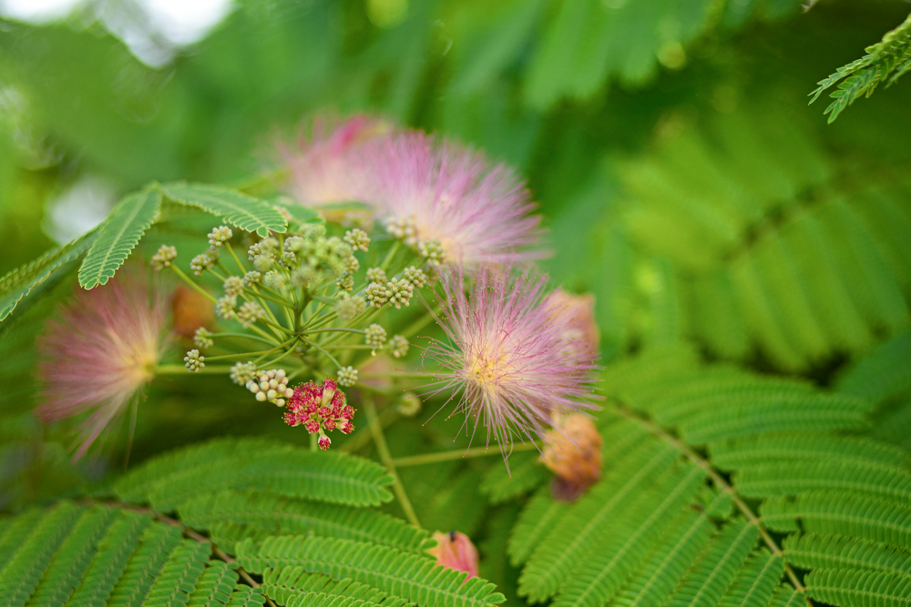
M 324 379 L 322 386 L 317 386 L 312 381 L 301 384 L 294 389 L 287 407 L 285 423 L 289 426 L 303 426 L 311 434 L 318 433 L 322 450 L 329 449 L 332 443 L 326 436 L 327 431 L 338 429 L 344 434 L 351 434 L 354 430 L 354 409 L 345 404 L 344 392 L 338 389 L 334 379 Z

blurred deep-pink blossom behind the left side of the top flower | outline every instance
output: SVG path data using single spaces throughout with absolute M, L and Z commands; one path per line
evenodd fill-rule
M 301 137 L 297 149 L 282 147 L 292 170 L 294 196 L 304 205 L 323 205 L 366 199 L 372 170 L 359 152 L 363 144 L 389 130 L 384 122 L 368 116 L 351 116 L 341 123 L 330 118 L 313 120 L 312 137 Z

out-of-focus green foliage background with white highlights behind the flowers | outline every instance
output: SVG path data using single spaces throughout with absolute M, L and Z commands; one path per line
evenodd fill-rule
M 0 0 L 0 275 L 148 181 L 248 183 L 308 116 L 368 112 L 517 167 L 550 231 L 551 278 L 597 298 L 605 364 L 687 340 L 706 359 L 830 385 L 911 322 L 911 81 L 831 126 L 828 99 L 807 94 L 911 4 L 802 4 Z M 0 506 L 67 474 L 13 483 L 47 441 L 24 336 L 0 338 L 19 415 L 5 432 L 28 429 L 5 451 L 0 481 L 15 490 Z M 133 457 L 240 419 L 278 426 L 251 407 L 206 409 L 202 384 L 147 408 L 157 420 L 140 420 Z M 887 440 L 911 436 L 905 404 Z M 454 429 L 422 431 L 396 426 L 392 442 L 451 448 Z M 436 509 L 447 528 L 477 529 L 478 465 L 453 462 L 438 486 L 405 478 L 425 494 L 422 520 Z

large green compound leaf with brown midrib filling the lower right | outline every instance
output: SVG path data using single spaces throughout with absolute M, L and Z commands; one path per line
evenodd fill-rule
M 539 492 L 510 538 L 529 601 L 790 604 L 804 589 L 786 565 L 906 577 L 907 454 L 844 436 L 864 427 L 869 401 L 702 368 L 676 347 L 612 366 L 603 387 L 619 409 L 599 422 L 602 480 L 572 504 Z M 804 535 L 779 545 L 766 530 Z M 851 583 L 873 592 L 872 580 Z

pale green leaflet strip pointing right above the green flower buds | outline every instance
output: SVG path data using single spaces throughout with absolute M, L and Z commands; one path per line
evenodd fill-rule
M 161 186 L 165 195 L 192 207 L 200 207 L 230 224 L 261 237 L 288 229 L 281 211 L 269 203 L 226 187 L 169 183 Z

